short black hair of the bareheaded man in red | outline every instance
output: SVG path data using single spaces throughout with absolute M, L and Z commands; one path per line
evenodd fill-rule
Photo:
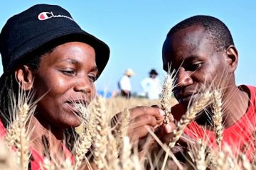
M 224 50 L 228 46 L 234 45 L 233 38 L 228 27 L 225 26 L 225 23 L 213 16 L 192 16 L 187 18 L 171 28 L 167 34 L 167 38 L 174 35 L 178 30 L 188 28 L 189 26 L 203 26 L 210 35 L 210 39 L 213 41 L 217 51 Z

